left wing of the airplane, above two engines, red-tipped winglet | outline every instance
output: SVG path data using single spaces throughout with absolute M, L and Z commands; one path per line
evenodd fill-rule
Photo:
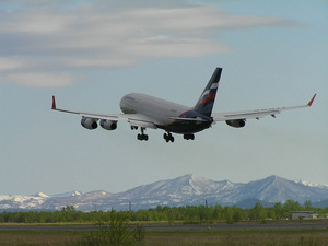
M 80 115 L 82 117 L 86 118 L 93 118 L 93 119 L 105 119 L 105 120 L 112 120 L 112 121 L 128 121 L 132 127 L 142 127 L 142 128 L 152 128 L 156 129 L 156 124 L 153 119 L 150 117 L 147 117 L 141 114 L 95 114 L 95 113 L 86 113 L 86 112 L 75 112 L 75 110 L 68 110 L 62 108 L 57 108 L 56 106 L 56 99 L 55 96 L 52 96 L 52 110 L 57 112 L 63 112 L 69 114 L 75 114 Z

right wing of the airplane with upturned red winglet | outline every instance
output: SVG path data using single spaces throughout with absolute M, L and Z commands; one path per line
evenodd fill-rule
M 256 110 L 246 110 L 246 112 L 230 112 L 230 113 L 213 113 L 212 117 L 214 121 L 225 121 L 225 120 L 237 120 L 237 119 L 259 119 L 265 116 L 271 115 L 276 117 L 277 114 L 280 114 L 283 110 L 297 109 L 303 107 L 311 107 L 315 97 L 315 94 L 312 99 L 306 105 L 293 106 L 293 107 L 278 107 L 278 108 L 268 108 L 268 109 L 256 109 Z

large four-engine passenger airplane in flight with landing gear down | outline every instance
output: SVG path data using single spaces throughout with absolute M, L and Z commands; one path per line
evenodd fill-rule
M 269 109 L 256 109 L 232 113 L 213 113 L 216 91 L 219 86 L 222 68 L 216 68 L 194 107 L 184 106 L 150 95 L 131 93 L 125 95 L 120 101 L 120 109 L 124 114 L 94 114 L 77 110 L 57 108 L 55 96 L 52 96 L 51 109 L 57 112 L 77 114 L 82 117 L 81 125 L 90 130 L 96 129 L 99 120 L 102 128 L 115 130 L 118 121 L 128 121 L 132 130 L 140 128 L 141 133 L 137 136 L 140 141 L 148 141 L 144 133 L 147 128 L 163 129 L 163 138 L 166 142 L 174 142 L 172 133 L 183 134 L 186 140 L 194 140 L 195 133 L 210 128 L 216 121 L 225 121 L 234 128 L 245 127 L 246 119 L 259 119 L 265 116 L 276 118 L 283 110 L 296 109 L 312 106 L 316 94 L 306 105 L 293 107 L 278 107 Z

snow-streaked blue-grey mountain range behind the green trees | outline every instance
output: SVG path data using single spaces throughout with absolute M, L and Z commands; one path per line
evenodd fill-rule
M 112 208 L 140 210 L 157 206 L 179 207 L 206 203 L 253 208 L 256 202 L 270 206 L 286 200 L 300 203 L 308 200 L 313 206 L 328 207 L 328 185 L 288 180 L 279 176 L 242 184 L 185 175 L 118 194 L 97 190 L 85 194 L 70 191 L 54 196 L 43 192 L 33 196 L 4 195 L 0 196 L 0 211 L 60 210 L 67 206 L 74 206 L 81 211 L 107 211 Z

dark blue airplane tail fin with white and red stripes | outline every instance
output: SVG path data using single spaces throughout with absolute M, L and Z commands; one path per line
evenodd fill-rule
M 194 107 L 196 112 L 206 115 L 208 117 L 211 117 L 221 72 L 222 72 L 222 68 L 215 69 L 212 78 L 210 79 L 208 85 L 203 90 L 196 106 Z

